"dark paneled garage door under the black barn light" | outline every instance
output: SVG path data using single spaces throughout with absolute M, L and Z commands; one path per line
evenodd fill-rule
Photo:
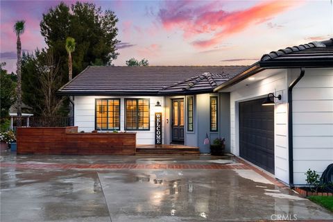
M 239 103 L 239 155 L 274 173 L 274 105 Z

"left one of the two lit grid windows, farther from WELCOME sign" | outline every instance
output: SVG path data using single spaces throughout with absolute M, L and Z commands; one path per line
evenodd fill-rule
M 120 130 L 120 99 L 96 99 L 96 130 Z

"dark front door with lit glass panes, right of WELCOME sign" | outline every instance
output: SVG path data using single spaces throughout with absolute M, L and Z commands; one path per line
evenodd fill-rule
M 172 100 L 172 143 L 184 144 L 184 99 Z

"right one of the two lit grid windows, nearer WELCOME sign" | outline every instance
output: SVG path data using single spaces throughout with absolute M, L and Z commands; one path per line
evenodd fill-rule
M 149 130 L 149 99 L 126 99 L 126 130 Z

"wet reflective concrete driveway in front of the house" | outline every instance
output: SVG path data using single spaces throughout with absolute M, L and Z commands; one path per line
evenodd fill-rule
M 1 163 L 223 164 L 230 157 L 98 157 L 1 153 Z M 176 162 L 175 162 L 176 161 Z M 89 165 L 87 165 L 89 166 Z M 1 167 L 1 221 L 257 221 L 333 214 L 251 169 Z M 272 216 L 273 215 L 273 216 Z

